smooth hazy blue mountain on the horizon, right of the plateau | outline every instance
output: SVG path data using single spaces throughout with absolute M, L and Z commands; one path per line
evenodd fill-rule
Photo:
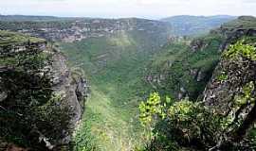
M 212 28 L 236 19 L 236 16 L 229 15 L 215 15 L 215 16 L 190 16 L 180 15 L 168 18 L 163 18 L 161 21 L 168 22 L 172 25 L 174 35 L 197 35 L 204 34 Z

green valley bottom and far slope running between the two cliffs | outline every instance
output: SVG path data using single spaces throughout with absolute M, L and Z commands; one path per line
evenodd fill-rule
M 90 81 L 83 120 L 100 150 L 130 150 L 141 143 L 137 106 L 148 93 L 143 71 L 158 41 L 137 31 L 59 43 L 70 66 L 82 68 Z

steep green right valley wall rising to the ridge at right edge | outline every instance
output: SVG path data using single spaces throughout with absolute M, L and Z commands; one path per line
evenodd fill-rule
M 167 43 L 147 67 L 145 80 L 157 92 L 172 93 L 175 98 L 201 99 L 206 85 L 229 44 L 255 40 L 255 18 L 242 16 L 206 36 L 178 39 Z

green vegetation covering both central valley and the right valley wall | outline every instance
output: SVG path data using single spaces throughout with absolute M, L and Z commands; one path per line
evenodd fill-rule
M 137 31 L 59 43 L 70 66 L 82 68 L 90 81 L 91 96 L 83 116 L 86 124 L 82 123 L 81 127 L 87 127 L 100 150 L 139 148 L 148 140 L 138 123 L 139 100 L 155 91 L 176 97 L 181 86 L 196 98 L 204 90 L 220 57 L 218 49 L 222 39 L 219 35 L 201 37 L 200 41 L 207 46 L 196 52 L 186 39 L 170 42 L 155 51 L 159 41 Z M 207 76 L 196 81 L 190 75 L 193 68 Z M 161 72 L 170 75 L 162 86 L 155 88 L 145 81 L 145 76 Z M 80 133 L 84 132 L 80 130 Z

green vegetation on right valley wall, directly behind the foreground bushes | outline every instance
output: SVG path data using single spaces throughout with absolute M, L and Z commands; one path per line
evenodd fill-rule
M 156 76 L 160 81 L 152 80 L 155 91 L 162 95 L 171 93 L 177 98 L 180 89 L 184 88 L 194 100 L 204 91 L 221 56 L 219 48 L 224 39 L 219 34 L 210 34 L 189 42 L 170 42 L 155 54 L 147 66 L 147 75 Z M 192 50 L 194 42 L 201 45 Z

